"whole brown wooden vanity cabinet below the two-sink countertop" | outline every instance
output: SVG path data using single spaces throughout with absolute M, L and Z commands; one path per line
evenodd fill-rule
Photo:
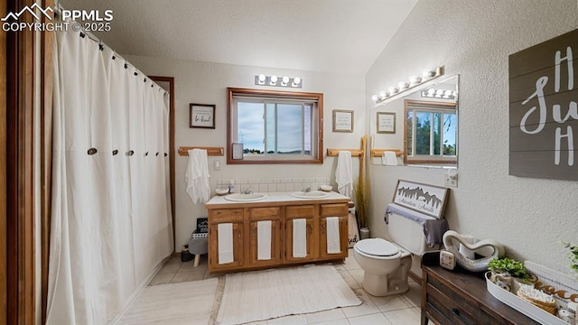
M 310 203 L 311 202 L 311 203 Z M 209 272 L 263 269 L 280 265 L 339 260 L 348 255 L 348 201 L 280 201 L 210 205 Z M 327 218 L 338 217 L 340 253 L 327 254 Z M 294 219 L 305 219 L 306 255 L 294 257 Z M 258 222 L 271 221 L 271 259 L 259 260 Z M 233 262 L 219 265 L 219 224 L 233 228 Z

